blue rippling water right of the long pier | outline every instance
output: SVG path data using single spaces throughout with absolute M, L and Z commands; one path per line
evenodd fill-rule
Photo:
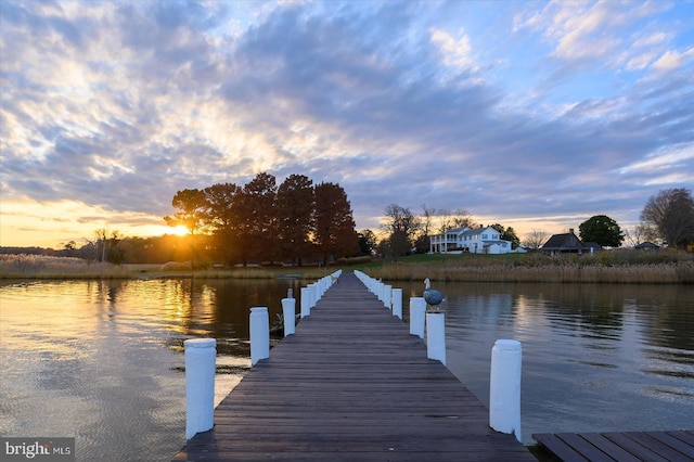
M 494 341 L 523 343 L 525 442 L 540 432 L 694 427 L 694 287 L 437 288 L 448 299 L 448 367 L 483 402 Z M 421 295 L 420 284 L 403 292 Z

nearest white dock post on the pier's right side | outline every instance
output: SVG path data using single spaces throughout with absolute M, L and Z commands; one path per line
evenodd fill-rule
M 491 349 L 489 426 L 520 439 L 520 342 L 500 339 Z

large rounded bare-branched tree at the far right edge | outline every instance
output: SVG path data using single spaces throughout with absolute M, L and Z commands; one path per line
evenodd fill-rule
M 686 247 L 694 242 L 692 192 L 684 188 L 659 191 L 643 207 L 641 220 L 666 244 Z

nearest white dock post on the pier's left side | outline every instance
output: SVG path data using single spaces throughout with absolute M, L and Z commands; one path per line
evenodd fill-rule
M 185 348 L 185 439 L 214 425 L 217 341 L 191 338 Z

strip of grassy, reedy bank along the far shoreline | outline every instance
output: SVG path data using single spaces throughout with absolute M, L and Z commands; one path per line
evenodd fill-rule
M 360 260 L 352 260 L 360 261 Z M 363 261 L 363 260 L 361 260 Z M 351 261 L 348 261 L 351 262 Z M 613 251 L 596 255 L 541 254 L 412 255 L 398 261 L 340 266 L 388 281 L 549 282 L 694 284 L 694 255 L 677 252 Z M 182 264 L 110 265 L 78 258 L 0 255 L 1 279 L 274 279 L 316 280 L 336 267 L 192 270 Z

